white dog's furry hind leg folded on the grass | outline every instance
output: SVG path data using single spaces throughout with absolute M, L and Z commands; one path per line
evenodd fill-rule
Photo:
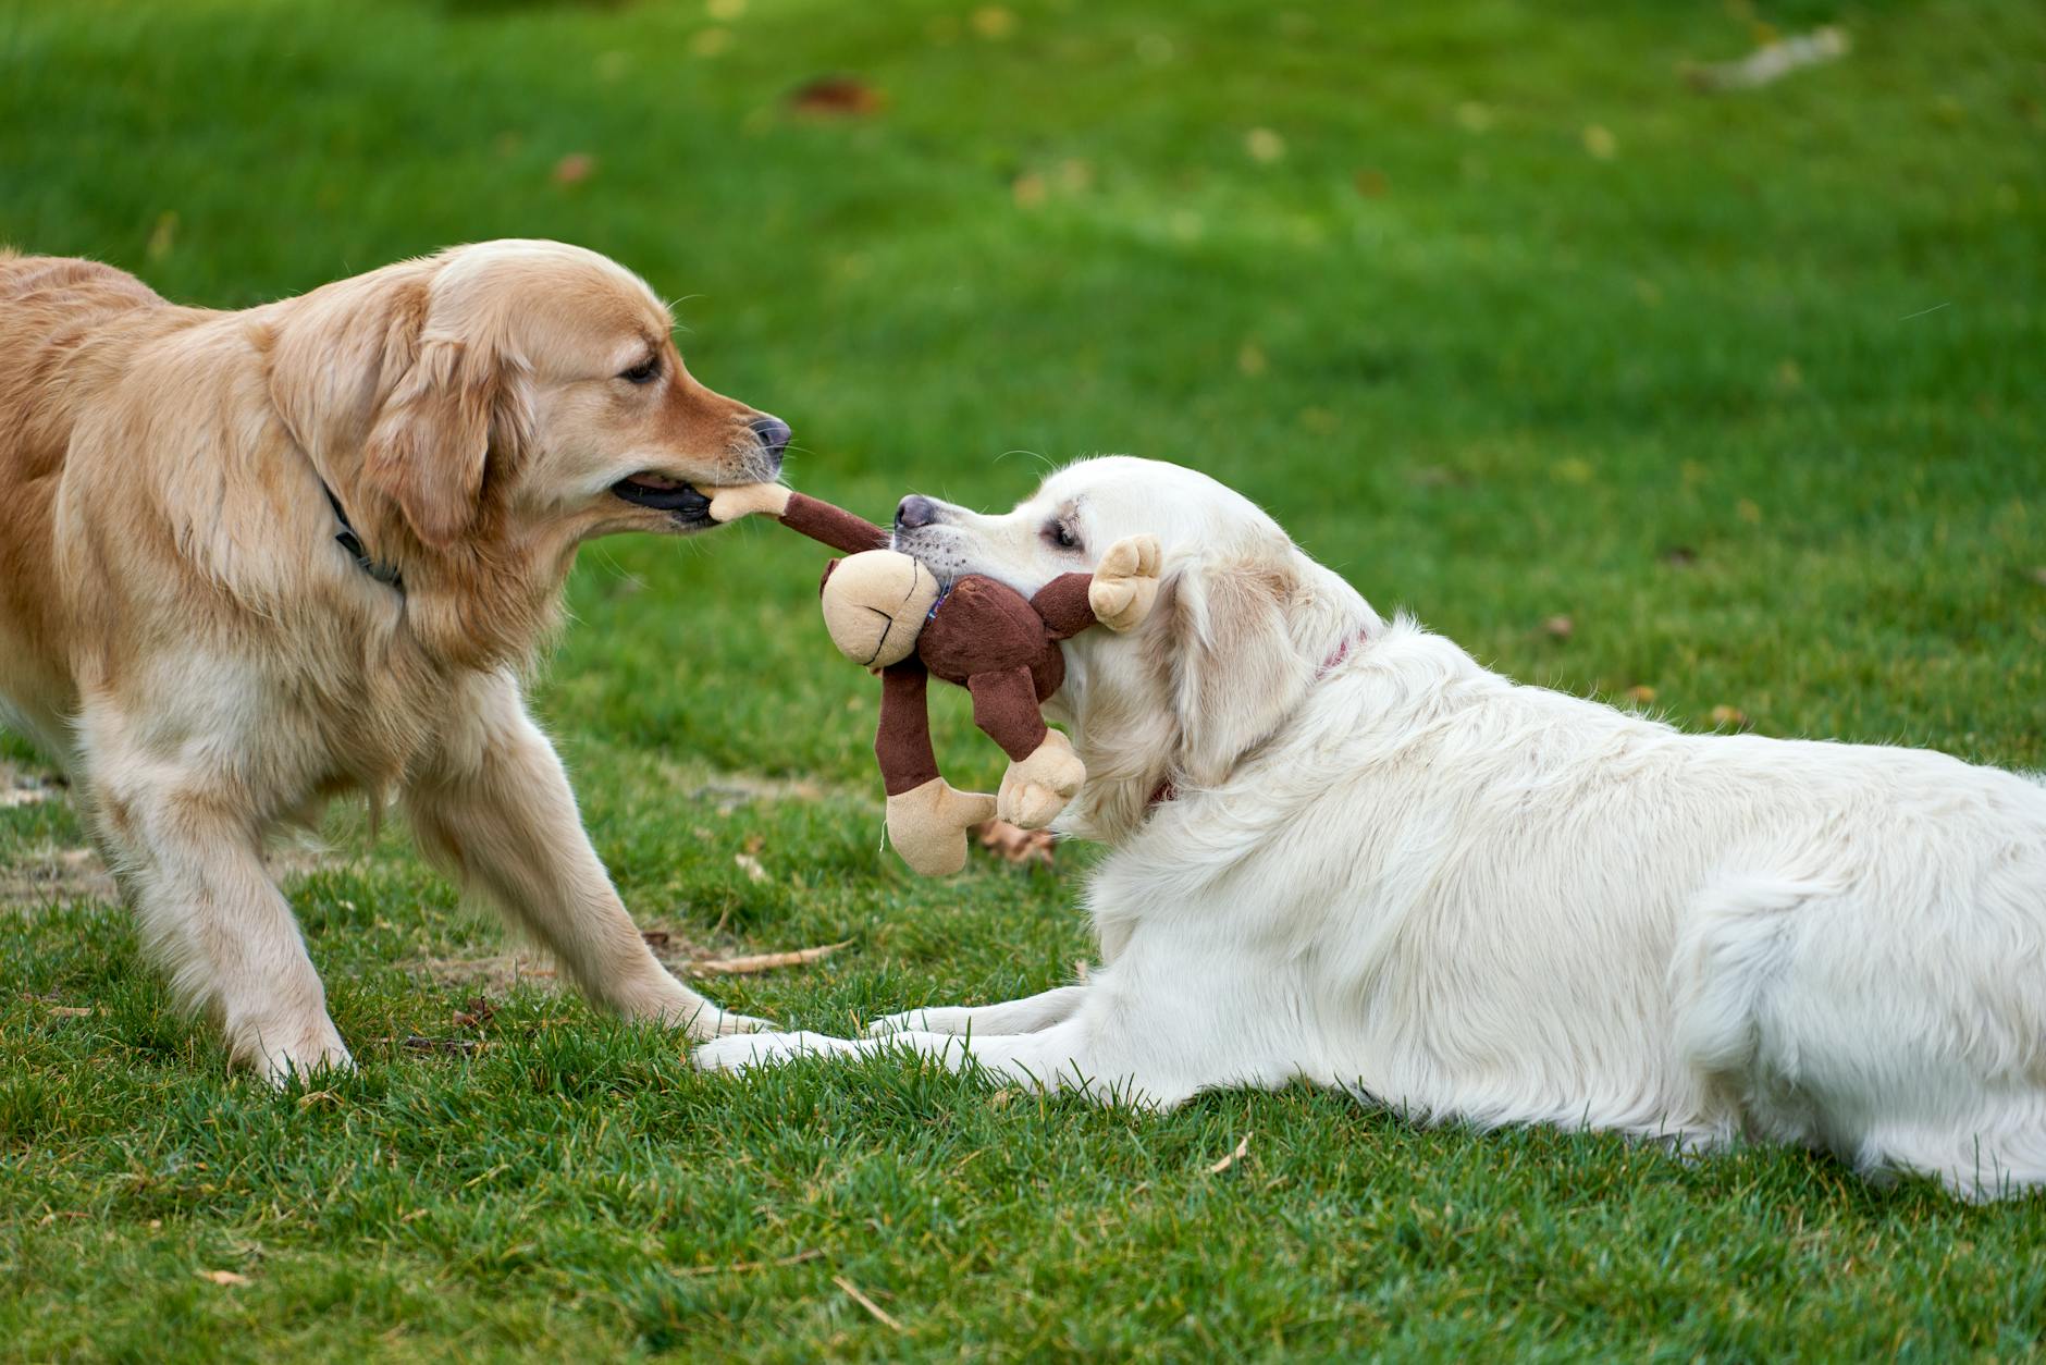
M 1993 937 L 1962 970 L 1931 941 L 1929 919 L 1831 886 L 1721 886 L 1672 966 L 1680 1048 L 1760 1136 L 1966 1199 L 2046 1185 L 2042 986 Z

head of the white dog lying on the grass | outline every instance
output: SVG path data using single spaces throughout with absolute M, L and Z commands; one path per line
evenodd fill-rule
M 1146 532 L 1164 548 L 1156 608 L 1127 636 L 1068 641 L 1066 686 L 1048 704 L 1088 772 L 1062 827 L 1107 841 L 1144 821 L 1162 784 L 1226 782 L 1377 616 L 1248 497 L 1160 460 L 1068 465 L 1005 516 L 931 497 L 896 510 L 896 548 L 939 579 L 984 573 L 1027 596 Z

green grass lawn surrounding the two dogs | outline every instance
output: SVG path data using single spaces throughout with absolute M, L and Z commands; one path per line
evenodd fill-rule
M 1520 677 L 2046 765 L 2036 4 L 730 8 L 0 0 L 0 239 L 215 305 L 583 241 L 683 299 L 692 366 L 786 415 L 820 495 L 1005 505 L 1037 456 L 1176 458 Z M 1686 88 L 1758 20 L 1854 51 Z M 886 111 L 786 111 L 831 72 Z M 595 168 L 559 184 L 571 153 Z M 822 1029 L 1058 982 L 1082 849 L 945 884 L 876 853 L 876 696 L 816 567 L 763 528 L 585 553 L 538 706 L 628 905 L 718 950 L 853 939 L 714 986 Z M 994 776 L 955 698 L 941 745 Z M 2038 1203 L 1803 1152 L 1307 1091 L 1140 1117 L 904 1062 L 735 1085 L 532 984 L 462 1025 L 479 986 L 421 962 L 495 929 L 399 833 L 333 833 L 288 886 L 362 1068 L 280 1097 L 225 1078 L 119 907 L 20 890 L 80 843 L 65 804 L 0 808 L 6 1353 L 1946 1359 L 2046 1330 Z

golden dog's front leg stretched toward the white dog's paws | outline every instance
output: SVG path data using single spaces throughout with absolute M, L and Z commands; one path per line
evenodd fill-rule
M 591 1001 L 690 1038 L 759 1027 L 690 990 L 647 948 L 518 684 L 491 677 L 477 692 L 430 776 L 405 796 L 426 851 L 552 952 Z

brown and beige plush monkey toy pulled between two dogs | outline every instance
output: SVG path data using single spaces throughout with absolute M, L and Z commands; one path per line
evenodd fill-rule
M 704 489 L 710 518 L 763 512 L 790 530 L 843 551 L 820 585 L 825 624 L 847 659 L 882 675 L 874 739 L 888 792 L 888 841 L 923 876 L 966 866 L 966 831 L 990 814 L 1043 829 L 1086 782 L 1086 767 L 1041 704 L 1066 679 L 1058 643 L 1093 626 L 1129 630 L 1158 593 L 1158 542 L 1131 536 L 1095 573 L 1066 573 L 1035 598 L 970 573 L 941 587 L 927 567 L 886 548 L 888 532 L 777 483 Z M 937 673 L 974 694 L 974 724 L 1009 755 L 998 796 L 960 792 L 931 751 L 927 679 Z

